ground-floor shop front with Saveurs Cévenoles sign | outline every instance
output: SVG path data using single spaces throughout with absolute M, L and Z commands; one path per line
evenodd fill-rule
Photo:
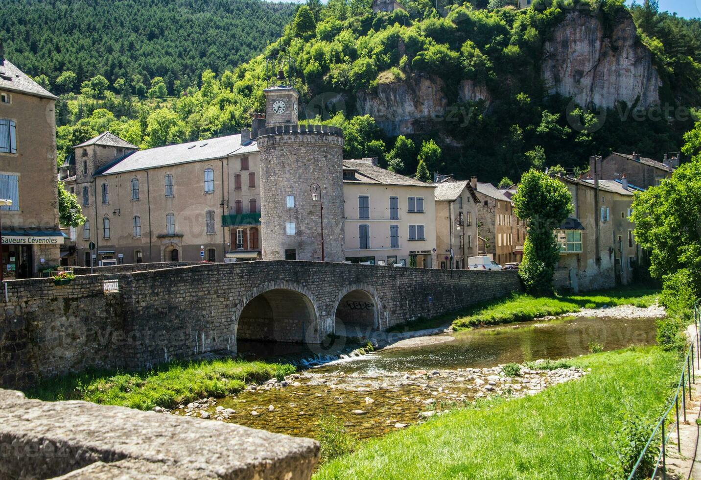
M 60 231 L 2 232 L 2 272 L 5 280 L 31 279 L 41 271 L 59 264 L 60 246 L 64 234 Z

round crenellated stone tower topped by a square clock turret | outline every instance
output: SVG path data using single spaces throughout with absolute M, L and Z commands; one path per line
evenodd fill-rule
M 297 123 L 299 94 L 264 90 L 266 127 L 258 134 L 263 260 L 345 260 L 343 131 Z M 318 184 L 320 194 L 310 192 Z

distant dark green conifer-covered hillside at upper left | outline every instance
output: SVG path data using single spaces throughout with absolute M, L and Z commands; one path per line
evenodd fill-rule
M 59 93 L 95 75 L 145 85 L 160 76 L 172 93 L 175 81 L 250 60 L 293 11 L 259 0 L 0 0 L 0 38 L 8 58 Z M 76 79 L 56 85 L 64 71 Z

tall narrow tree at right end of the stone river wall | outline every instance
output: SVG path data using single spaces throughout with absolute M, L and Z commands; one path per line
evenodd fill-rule
M 529 293 L 549 295 L 559 259 L 554 229 L 572 213 L 572 196 L 562 182 L 531 168 L 512 200 L 517 217 L 528 225 L 519 276 Z

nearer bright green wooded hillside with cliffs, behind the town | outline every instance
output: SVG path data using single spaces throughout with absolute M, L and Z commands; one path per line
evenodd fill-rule
M 651 1 L 630 10 L 621 0 L 536 0 L 522 11 L 482 3 L 442 2 L 436 11 L 433 2 L 407 0 L 408 13 L 374 14 L 370 0 L 308 0 L 280 39 L 238 67 L 212 65 L 177 86 L 158 76 L 149 84 L 130 76 L 84 82 L 81 95 L 64 95 L 68 101 L 57 109 L 60 152 L 107 129 L 143 147 L 235 133 L 264 107 L 264 55 L 279 55 L 268 78 L 283 61 L 288 71 L 292 58 L 301 116 L 341 126 L 347 157 L 379 156 L 400 173 L 416 173 L 423 160 L 430 172 L 498 182 L 517 180 L 530 166 L 583 168 L 594 154 L 637 151 L 661 159 L 679 150 L 693 126 L 690 107 L 701 99 L 698 20 L 659 13 Z M 610 105 L 577 105 L 547 85 L 546 76 L 586 76 L 570 64 L 564 40 L 590 31 L 606 49 L 594 52 L 608 62 L 604 74 L 618 74 L 619 64 L 644 72 L 618 75 L 616 88 L 627 88 L 628 98 L 615 98 L 613 88 L 608 98 L 593 97 Z M 587 88 L 598 92 L 598 81 Z M 412 119 L 421 102 L 424 116 Z M 414 121 L 392 121 L 402 115 Z

